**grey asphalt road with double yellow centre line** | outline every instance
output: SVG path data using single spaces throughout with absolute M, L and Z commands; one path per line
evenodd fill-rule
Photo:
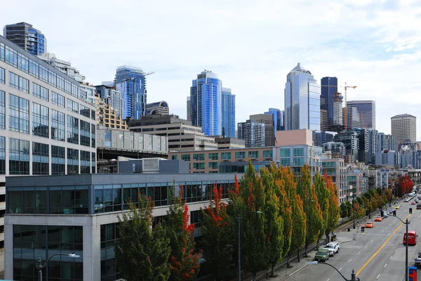
M 408 221 L 410 221 L 408 230 L 415 230 L 419 235 L 417 245 L 408 247 L 408 266 L 413 266 L 417 252 L 421 251 L 421 247 L 420 249 L 418 247 L 421 244 L 421 210 L 417 210 L 416 205 L 411 205 L 410 202 L 401 202 L 400 205 L 401 208 L 396 210 L 396 216 L 399 216 L 402 221 L 405 221 L 408 216 Z M 410 207 L 413 208 L 413 214 L 409 214 Z M 419 218 L 420 222 L 417 221 Z M 402 240 L 405 231 L 406 226 L 398 218 L 389 216 L 381 222 L 375 222 L 374 228 L 366 228 L 364 233 L 356 233 L 356 230 L 338 233 L 340 251 L 330 257 L 328 263 L 338 268 L 348 280 L 351 280 L 354 269 L 361 281 L 403 281 L 406 250 Z M 356 240 L 354 240 L 354 235 L 356 235 Z M 307 261 L 312 260 L 314 254 L 315 251 L 312 251 Z M 283 277 L 282 280 L 343 280 L 334 268 L 321 263 L 306 265 L 305 261 L 302 260 L 295 272 L 291 273 L 288 270 L 289 276 Z M 421 275 L 421 270 L 418 271 L 418 275 Z

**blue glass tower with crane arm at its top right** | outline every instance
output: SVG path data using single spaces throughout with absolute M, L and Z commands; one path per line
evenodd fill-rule
M 142 68 L 123 65 L 117 68 L 114 84 L 123 95 L 123 119 L 139 119 L 146 112 L 146 76 Z

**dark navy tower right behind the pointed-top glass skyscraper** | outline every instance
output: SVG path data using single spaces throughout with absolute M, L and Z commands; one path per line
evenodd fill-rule
M 327 122 L 321 122 L 321 126 L 330 129 L 333 125 L 333 118 L 335 110 L 333 110 L 333 96 L 338 92 L 338 78 L 336 77 L 323 77 L 320 81 L 320 98 L 324 103 L 320 103 L 320 110 L 326 110 Z M 321 120 L 323 121 L 323 120 Z

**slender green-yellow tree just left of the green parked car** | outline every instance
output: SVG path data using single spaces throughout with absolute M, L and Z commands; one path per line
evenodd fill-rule
M 301 169 L 301 177 L 298 180 L 297 190 L 300 197 L 302 197 L 304 212 L 306 214 L 305 256 L 307 256 L 309 244 L 316 241 L 319 233 L 323 230 L 323 216 L 321 215 L 316 190 L 314 184 L 312 184 L 312 178 L 307 164 Z

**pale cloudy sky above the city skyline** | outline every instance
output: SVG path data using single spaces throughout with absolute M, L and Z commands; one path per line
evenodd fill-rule
M 286 75 L 301 63 L 319 81 L 357 86 L 348 100 L 375 100 L 376 126 L 421 117 L 420 0 L 14 0 L 0 24 L 29 22 L 48 51 L 86 81 L 114 79 L 116 67 L 149 72 L 148 102 L 167 100 L 186 117 L 196 74 L 212 70 L 236 95 L 236 122 L 283 109 Z M 421 120 L 417 122 L 421 141 Z

